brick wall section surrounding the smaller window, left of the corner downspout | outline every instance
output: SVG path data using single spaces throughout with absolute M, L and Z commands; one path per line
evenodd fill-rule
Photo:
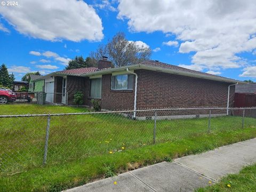
M 133 90 L 117 91 L 111 90 L 111 74 L 102 75 L 101 107 L 108 110 L 133 110 L 134 105 Z

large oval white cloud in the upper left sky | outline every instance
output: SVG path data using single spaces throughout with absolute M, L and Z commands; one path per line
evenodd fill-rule
M 2 6 L 0 13 L 19 33 L 47 41 L 100 41 L 99 15 L 84 1 L 22 0 L 18 6 Z

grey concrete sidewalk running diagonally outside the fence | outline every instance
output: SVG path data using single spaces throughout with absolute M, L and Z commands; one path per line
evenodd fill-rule
M 256 163 L 256 138 L 199 155 L 174 159 L 66 190 L 75 191 L 194 191 L 243 166 Z M 114 182 L 116 181 L 116 185 Z

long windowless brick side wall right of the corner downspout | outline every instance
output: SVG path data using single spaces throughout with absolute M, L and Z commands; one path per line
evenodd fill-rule
M 142 69 L 134 72 L 138 74 L 137 109 L 227 106 L 228 83 Z M 231 86 L 230 107 L 234 93 Z

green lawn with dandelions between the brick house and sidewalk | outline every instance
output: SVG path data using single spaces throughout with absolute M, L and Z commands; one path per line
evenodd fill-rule
M 86 111 L 86 108 L 37 105 L 6 105 L 0 109 L 1 114 L 12 115 L 18 114 L 17 111 L 19 114 Z M 156 123 L 153 145 L 153 120 L 134 121 L 118 114 L 53 116 L 47 164 L 42 166 L 47 117 L 2 118 L 0 190 L 58 191 L 102 177 L 111 167 L 115 172 L 123 172 L 254 138 L 255 124 L 255 118 L 245 118 L 242 130 L 241 117 L 214 117 L 208 134 L 208 118 L 161 120 Z

